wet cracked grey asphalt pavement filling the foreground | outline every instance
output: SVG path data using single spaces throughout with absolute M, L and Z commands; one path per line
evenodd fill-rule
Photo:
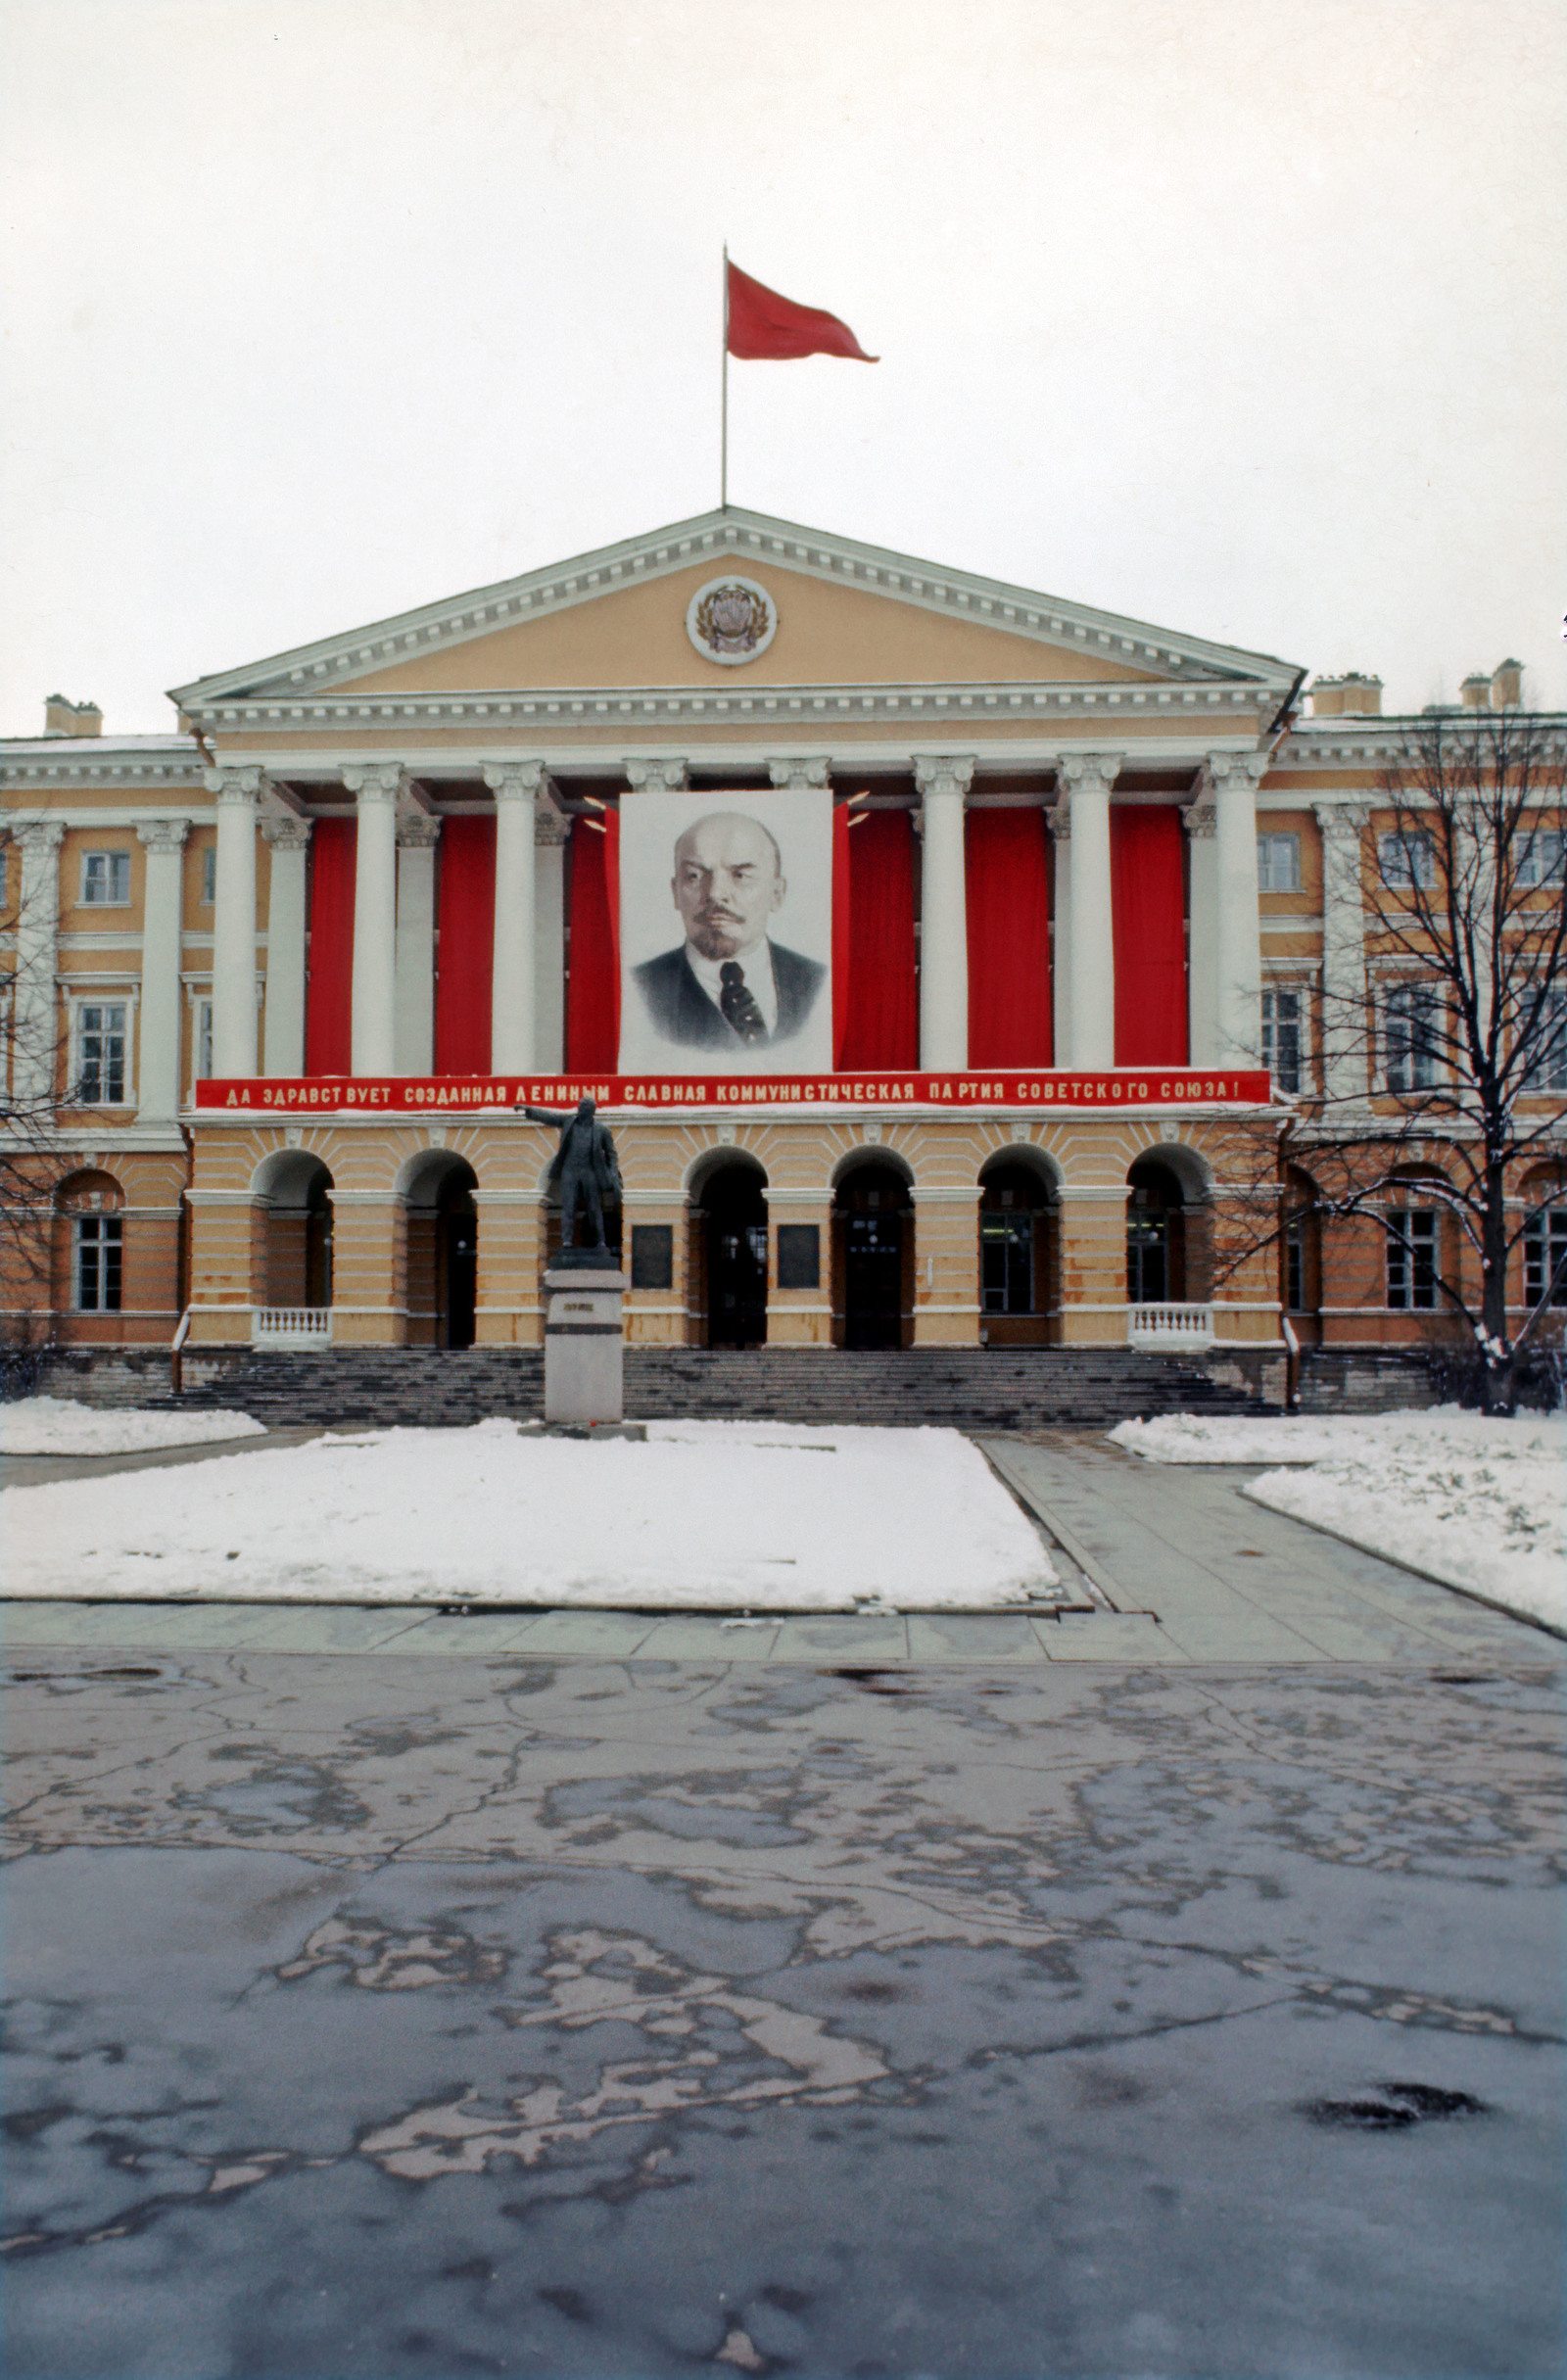
M 14 1647 L 10 2380 L 1557 2373 L 1560 1647 L 1419 1595 L 1469 1649 Z

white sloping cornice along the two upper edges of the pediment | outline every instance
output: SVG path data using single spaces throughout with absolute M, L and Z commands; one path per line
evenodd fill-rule
M 493 635 L 495 628 L 545 619 L 617 588 L 662 578 L 693 562 L 722 562 L 724 557 L 757 566 L 776 562 L 810 578 L 860 585 L 924 612 L 941 612 L 948 619 L 974 619 L 1076 654 L 1100 652 L 1129 669 L 1160 671 L 1172 678 L 1246 678 L 1286 693 L 1298 676 L 1293 664 L 1276 654 L 1174 635 L 1148 621 L 1062 602 L 1055 595 L 1007 585 L 1000 578 L 950 571 L 922 562 L 917 555 L 860 545 L 853 538 L 826 536 L 819 528 L 803 528 L 798 521 L 779 521 L 772 514 L 741 512 L 731 505 L 724 512 L 674 521 L 643 538 L 600 545 L 588 555 L 574 555 L 569 562 L 529 571 L 522 578 L 502 578 L 488 588 L 472 588 L 467 595 L 372 621 L 345 635 L 298 645 L 293 652 L 274 652 L 243 669 L 195 678 L 191 685 L 171 688 L 171 700 L 186 716 L 207 716 L 212 702 L 236 695 L 300 693 L 307 685 L 324 690 L 333 681 L 352 683 L 355 676 L 391 669 L 417 652 L 448 650 L 476 635 Z

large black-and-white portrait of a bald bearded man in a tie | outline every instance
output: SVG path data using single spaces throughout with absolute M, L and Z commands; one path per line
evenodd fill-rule
M 831 1073 L 834 797 L 619 804 L 619 1071 Z

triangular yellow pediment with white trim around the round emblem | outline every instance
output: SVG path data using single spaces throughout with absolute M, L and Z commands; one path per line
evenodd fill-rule
M 733 669 L 686 631 L 712 578 L 767 590 L 776 631 Z M 1288 688 L 1272 654 L 1060 602 L 767 514 L 703 514 L 548 571 L 374 621 L 174 688 L 207 704 L 355 693 L 462 695 L 538 688 L 750 685 L 1255 685 Z

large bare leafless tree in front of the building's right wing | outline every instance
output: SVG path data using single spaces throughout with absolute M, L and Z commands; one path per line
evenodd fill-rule
M 1488 1411 L 1512 1404 L 1567 1271 L 1543 1235 L 1538 1295 L 1510 1333 L 1515 1257 L 1560 1202 L 1567 1159 L 1565 788 L 1567 738 L 1538 714 L 1429 714 L 1407 731 L 1381 778 L 1365 964 L 1326 971 L 1324 1090 L 1281 1145 L 1322 1219 L 1374 1216 L 1405 1278 L 1419 1269 L 1462 1319 Z M 1415 1188 L 1448 1219 L 1422 1245 L 1400 1204 Z

